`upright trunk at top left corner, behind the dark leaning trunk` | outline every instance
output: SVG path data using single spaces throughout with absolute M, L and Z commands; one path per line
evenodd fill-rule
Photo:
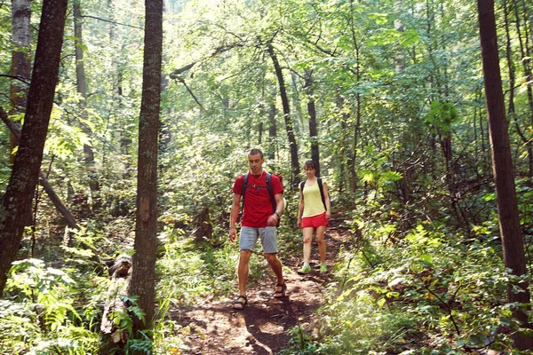
M 31 75 L 31 59 L 29 52 L 31 51 L 31 33 L 29 20 L 31 18 L 31 11 L 29 8 L 29 0 L 12 0 L 12 69 L 11 75 L 20 77 L 20 79 L 29 81 Z M 11 102 L 12 110 L 10 114 L 26 112 L 26 104 L 28 102 L 28 85 L 17 80 L 13 80 L 11 84 Z M 18 126 L 17 128 L 20 129 Z M 10 152 L 17 146 L 16 138 L 11 134 L 10 136 Z M 15 156 L 10 156 L 10 162 L 15 161 Z

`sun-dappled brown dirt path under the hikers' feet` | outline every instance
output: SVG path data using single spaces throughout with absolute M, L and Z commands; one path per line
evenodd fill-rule
M 327 264 L 331 270 L 338 250 L 350 241 L 349 231 L 332 220 L 326 232 Z M 289 347 L 290 330 L 301 327 L 306 335 L 318 336 L 321 322 L 315 312 L 325 303 L 329 273 L 319 272 L 319 257 L 313 245 L 313 271 L 299 275 L 301 253 L 282 257 L 287 296 L 274 298 L 274 272 L 268 267 L 265 277 L 249 282 L 248 302 L 243 311 L 235 311 L 233 298 L 221 301 L 198 299 L 196 304 L 171 312 L 172 319 L 190 329 L 186 335 L 188 351 L 183 354 L 277 354 Z M 314 262 L 314 264 L 313 264 Z M 237 288 L 235 285 L 235 292 Z

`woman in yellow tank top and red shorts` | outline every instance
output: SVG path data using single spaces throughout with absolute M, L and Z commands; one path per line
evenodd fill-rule
M 298 227 L 302 228 L 304 233 L 304 266 L 298 270 L 298 273 L 311 272 L 309 260 L 314 230 L 316 230 L 316 243 L 320 254 L 320 272 L 323 273 L 328 271 L 324 233 L 331 217 L 330 194 L 328 193 L 328 185 L 323 183 L 320 177 L 315 176 L 316 163 L 314 161 L 307 161 L 304 169 L 306 170 L 306 181 L 300 184 L 298 204 Z

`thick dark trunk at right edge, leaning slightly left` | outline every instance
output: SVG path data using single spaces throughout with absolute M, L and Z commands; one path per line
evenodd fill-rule
M 481 36 L 481 59 L 485 85 L 485 97 L 489 114 L 490 146 L 497 193 L 497 213 L 504 249 L 505 266 L 515 275 L 527 272 L 524 245 L 521 234 L 518 203 L 514 187 L 513 161 L 509 143 L 508 125 L 505 119 L 504 94 L 499 71 L 494 0 L 477 0 Z M 513 292 L 513 287 L 521 292 Z M 509 303 L 529 304 L 526 282 L 507 285 Z M 516 309 L 513 316 L 528 327 L 528 315 Z M 520 333 L 513 337 L 519 350 L 533 349 L 533 339 Z

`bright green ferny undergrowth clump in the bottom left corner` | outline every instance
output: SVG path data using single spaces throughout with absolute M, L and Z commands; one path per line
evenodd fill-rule
M 97 312 L 80 303 L 76 281 L 68 272 L 45 267 L 38 259 L 13 263 L 0 302 L 2 354 L 86 354 L 99 347 L 91 330 Z M 82 309 L 86 307 L 86 312 Z

